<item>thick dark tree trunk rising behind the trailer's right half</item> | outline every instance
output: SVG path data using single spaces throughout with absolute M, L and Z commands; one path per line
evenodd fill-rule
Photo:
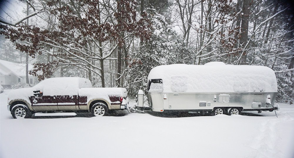
M 248 40 L 248 24 L 249 24 L 249 0 L 243 1 L 243 15 L 242 15 L 242 24 L 241 24 L 241 38 L 240 38 L 240 44 L 242 45 L 242 48 L 244 49 L 247 40 Z M 245 49 L 243 50 L 243 55 L 241 57 L 241 64 L 246 64 L 247 59 L 247 51 Z

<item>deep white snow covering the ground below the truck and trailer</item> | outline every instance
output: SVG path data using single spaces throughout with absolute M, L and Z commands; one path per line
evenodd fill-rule
M 1 158 L 294 157 L 293 105 L 280 104 L 278 118 L 274 112 L 168 118 L 118 111 L 13 119 L 7 92 L 0 94 Z

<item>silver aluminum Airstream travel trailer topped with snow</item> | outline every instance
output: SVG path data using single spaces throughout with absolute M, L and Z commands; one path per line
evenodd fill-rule
M 151 110 L 156 112 L 231 115 L 278 110 L 274 103 L 277 89 L 275 73 L 268 67 L 209 62 L 153 68 L 148 75 L 147 96 Z

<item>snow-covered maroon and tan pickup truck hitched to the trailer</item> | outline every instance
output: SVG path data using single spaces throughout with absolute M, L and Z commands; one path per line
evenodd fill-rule
M 106 116 L 126 109 L 126 88 L 92 88 L 91 81 L 78 77 L 48 78 L 34 87 L 8 93 L 7 109 L 13 118 L 30 118 L 36 112 L 91 112 Z

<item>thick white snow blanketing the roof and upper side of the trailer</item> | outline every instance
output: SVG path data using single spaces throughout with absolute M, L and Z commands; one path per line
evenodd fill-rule
M 204 65 L 172 64 L 153 68 L 148 92 L 277 92 L 272 69 L 265 66 L 226 65 L 209 62 Z M 163 90 L 158 90 L 163 89 Z

